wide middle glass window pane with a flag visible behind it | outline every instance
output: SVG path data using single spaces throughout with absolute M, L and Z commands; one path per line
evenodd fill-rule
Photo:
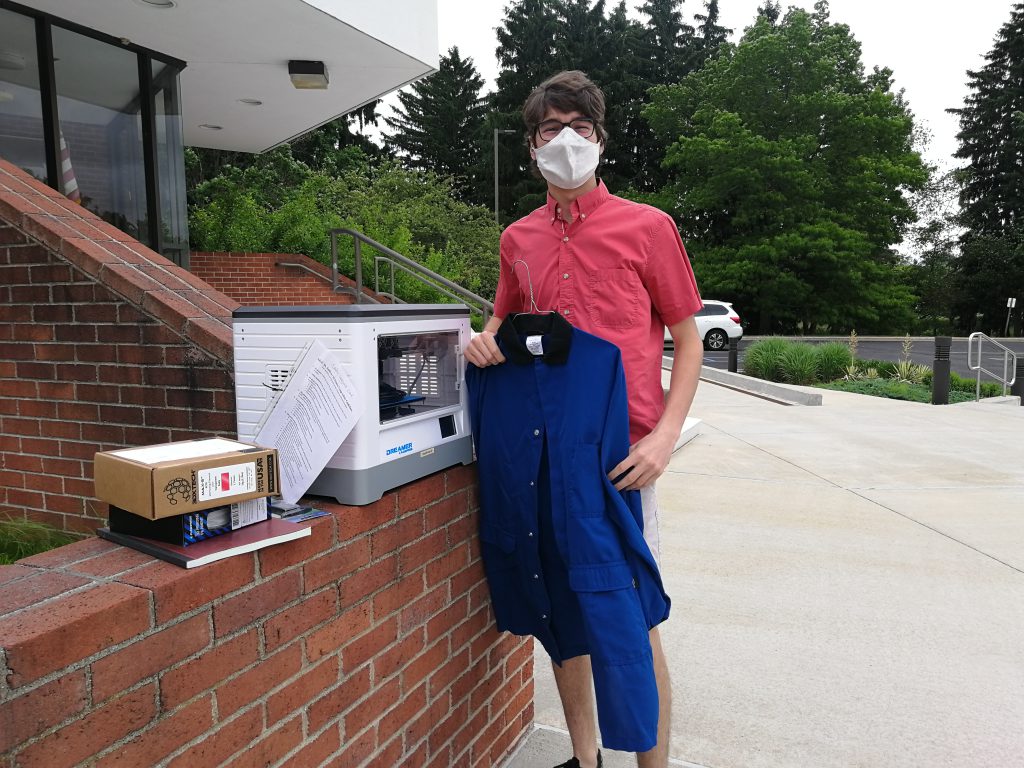
M 61 191 L 150 242 L 138 57 L 54 26 Z

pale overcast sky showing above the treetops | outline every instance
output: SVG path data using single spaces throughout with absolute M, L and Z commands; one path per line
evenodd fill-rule
M 616 0 L 608 0 L 611 7 Z M 719 0 L 720 24 L 733 30 L 736 41 L 751 26 L 763 0 Z M 631 8 L 643 0 L 627 0 Z M 438 0 L 437 27 L 443 54 L 453 45 L 470 56 L 477 71 L 494 87 L 498 74 L 495 30 L 504 18 L 508 0 Z M 811 10 L 814 0 L 782 2 Z M 930 163 L 949 167 L 956 150 L 956 119 L 943 111 L 961 106 L 967 89 L 967 71 L 977 70 L 991 50 L 995 34 L 1010 19 L 1011 0 L 831 0 L 833 22 L 849 25 L 860 42 L 866 70 L 874 66 L 893 71 L 895 88 L 905 97 L 919 124 L 932 132 L 926 155 Z M 703 10 L 703 0 L 685 0 L 683 15 L 692 22 Z M 635 17 L 639 17 L 635 11 Z

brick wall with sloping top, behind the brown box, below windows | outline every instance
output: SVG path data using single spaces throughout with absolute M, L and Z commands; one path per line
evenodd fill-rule
M 92 532 L 97 451 L 233 436 L 236 306 L 0 161 L 0 514 Z

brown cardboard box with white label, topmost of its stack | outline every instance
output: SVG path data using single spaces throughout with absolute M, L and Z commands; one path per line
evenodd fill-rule
M 278 452 L 219 437 L 96 454 L 96 498 L 156 520 L 273 496 Z

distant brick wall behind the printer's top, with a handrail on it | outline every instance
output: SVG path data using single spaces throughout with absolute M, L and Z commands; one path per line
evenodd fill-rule
M 306 269 L 284 266 L 296 263 Z M 197 278 L 246 306 L 351 304 L 353 301 L 351 294 L 331 290 L 329 267 L 302 254 L 194 251 L 188 268 Z M 339 275 L 338 280 L 345 286 L 354 286 L 344 275 Z

